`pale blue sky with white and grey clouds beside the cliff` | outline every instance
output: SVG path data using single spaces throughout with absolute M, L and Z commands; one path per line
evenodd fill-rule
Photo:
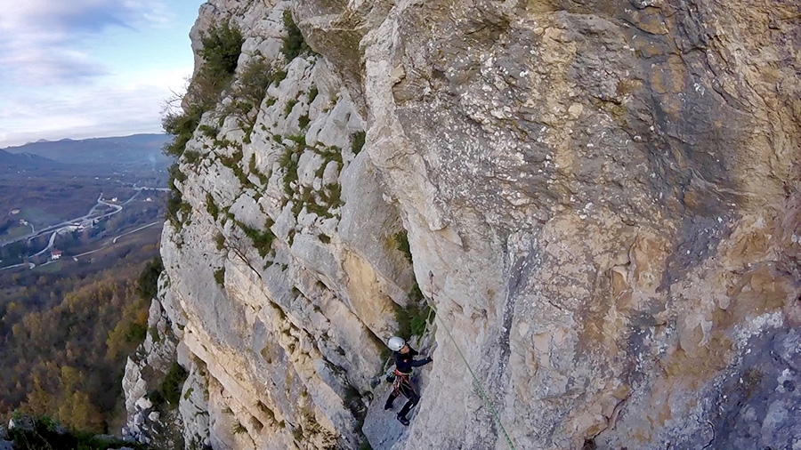
M 203 0 L 0 0 L 0 149 L 160 133 Z

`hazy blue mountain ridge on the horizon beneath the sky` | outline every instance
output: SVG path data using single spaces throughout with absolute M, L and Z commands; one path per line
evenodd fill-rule
M 167 165 L 169 159 L 161 149 L 170 139 L 167 134 L 133 134 L 83 140 L 36 141 L 3 150 L 16 155 L 33 154 L 64 164 L 126 165 L 150 162 Z

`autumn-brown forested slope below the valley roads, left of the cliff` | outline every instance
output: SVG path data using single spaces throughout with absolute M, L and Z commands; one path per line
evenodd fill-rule
M 0 419 L 19 408 L 79 430 L 119 431 L 120 381 L 147 333 L 157 256 L 158 245 L 145 245 L 106 269 L 0 276 Z

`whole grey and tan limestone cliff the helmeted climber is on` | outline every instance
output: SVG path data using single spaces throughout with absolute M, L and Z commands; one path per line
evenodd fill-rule
M 288 61 L 287 9 L 313 50 Z M 161 303 L 190 372 L 185 441 L 794 445 L 799 18 L 779 1 L 205 4 L 196 48 L 232 20 L 239 76 L 286 75 L 258 108 L 206 113 L 181 164 Z M 376 376 L 416 286 L 434 363 L 401 430 Z

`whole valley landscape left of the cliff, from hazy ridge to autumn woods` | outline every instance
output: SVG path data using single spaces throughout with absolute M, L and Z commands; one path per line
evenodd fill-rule
M 163 135 L 0 149 L 0 420 L 118 433 L 166 211 Z M 34 153 L 36 152 L 36 153 Z

